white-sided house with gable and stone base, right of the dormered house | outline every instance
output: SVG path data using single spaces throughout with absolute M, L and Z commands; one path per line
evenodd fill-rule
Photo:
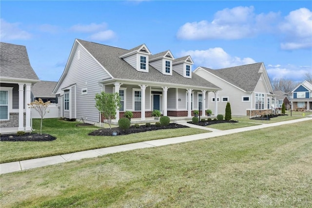
M 232 115 L 272 112 L 273 88 L 262 62 L 217 70 L 199 66 L 194 73 L 222 89 L 208 95 L 208 108 L 213 110 L 217 106 L 216 114 L 224 115 L 228 102 Z

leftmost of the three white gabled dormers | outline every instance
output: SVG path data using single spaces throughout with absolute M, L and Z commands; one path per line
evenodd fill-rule
M 124 54 L 119 56 L 119 58 L 128 62 L 135 69 L 137 69 L 137 71 L 148 72 L 150 55 L 151 52 L 149 51 L 149 49 L 146 47 L 145 44 L 142 44 L 126 51 Z

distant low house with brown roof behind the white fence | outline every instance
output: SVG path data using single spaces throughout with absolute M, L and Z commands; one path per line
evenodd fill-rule
M 52 93 L 53 89 L 57 85 L 58 82 L 50 82 L 50 81 L 40 81 L 39 83 L 35 83 L 32 87 L 32 101 L 41 100 L 45 103 L 50 101 L 51 104 L 57 103 L 55 94 Z

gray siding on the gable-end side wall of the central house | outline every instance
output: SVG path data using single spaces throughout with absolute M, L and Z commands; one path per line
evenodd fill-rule
M 108 79 L 110 76 L 79 44 L 77 45 L 77 48 L 73 49 L 74 57 L 68 63 L 69 69 L 59 87 L 59 91 L 76 83 L 77 119 L 83 118 L 85 121 L 99 122 L 99 112 L 95 107 L 95 95 L 100 93 L 102 88 L 98 82 Z M 78 50 L 80 50 L 79 60 Z M 87 94 L 81 94 L 82 88 L 87 88 Z M 65 115 L 64 112 L 64 116 L 69 115 Z

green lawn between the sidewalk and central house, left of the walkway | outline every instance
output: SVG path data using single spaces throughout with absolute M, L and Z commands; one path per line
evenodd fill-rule
M 78 122 L 59 119 L 44 119 L 42 133 L 57 137 L 51 142 L 0 142 L 0 163 L 8 163 L 71 152 L 124 145 L 148 140 L 206 133 L 197 128 L 166 129 L 122 136 L 88 136 L 98 127 L 76 127 Z M 40 120 L 33 119 L 35 133 L 40 129 Z

